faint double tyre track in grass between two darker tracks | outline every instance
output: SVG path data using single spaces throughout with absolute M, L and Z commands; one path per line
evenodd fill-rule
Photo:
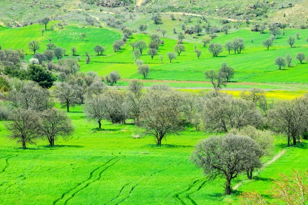
M 178 164 L 175 165 L 174 167 L 177 167 L 177 166 L 181 165 L 181 163 L 184 163 L 185 161 L 187 161 L 187 159 L 185 159 L 184 161 L 178 163 Z M 107 202 L 106 204 L 111 203 L 112 201 L 115 201 L 115 200 L 117 200 L 118 198 L 120 198 L 121 195 L 122 195 L 122 193 L 124 192 L 124 189 L 125 189 L 125 188 L 128 188 L 128 189 L 130 188 L 128 194 L 127 194 L 124 198 L 122 198 L 119 202 L 114 203 L 114 205 L 118 205 L 118 204 L 124 202 L 125 200 L 129 199 L 129 197 L 131 196 L 133 190 L 134 190 L 137 186 L 139 186 L 139 184 L 140 184 L 139 181 L 140 181 L 141 179 L 144 178 L 143 181 L 147 181 L 147 180 L 151 179 L 154 175 L 156 175 L 156 174 L 158 174 L 158 173 L 160 173 L 160 172 L 163 172 L 163 171 L 169 169 L 169 168 L 171 167 L 171 165 L 174 164 L 175 162 L 176 162 L 176 161 L 173 161 L 173 162 L 169 163 L 164 169 L 161 169 L 161 170 L 159 170 L 159 171 L 157 171 L 157 172 L 154 172 L 154 173 L 152 173 L 152 174 L 151 174 L 150 176 L 148 176 L 148 177 L 145 177 L 145 176 L 143 175 L 143 176 L 141 176 L 139 179 L 137 179 L 136 181 L 134 181 L 134 182 L 132 182 L 132 183 L 128 183 L 127 185 L 125 185 L 125 186 L 120 190 L 120 193 L 119 193 L 119 195 L 118 195 L 117 197 L 113 198 L 112 200 L 110 200 L 110 201 Z M 131 184 L 132 184 L 132 185 L 131 185 Z M 131 185 L 131 186 L 129 186 L 129 185 Z

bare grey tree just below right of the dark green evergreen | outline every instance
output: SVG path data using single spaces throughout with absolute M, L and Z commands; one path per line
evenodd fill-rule
M 60 101 L 61 107 L 66 108 L 67 112 L 69 112 L 70 107 L 80 104 L 81 99 L 78 96 L 79 91 L 82 91 L 81 87 L 72 86 L 67 83 L 56 85 L 53 90 L 55 96 Z

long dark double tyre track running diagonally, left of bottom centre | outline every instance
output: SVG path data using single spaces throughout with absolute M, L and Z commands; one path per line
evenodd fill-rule
M 120 159 L 122 159 L 122 158 L 124 158 L 124 157 L 125 157 L 125 156 L 121 157 Z M 104 165 L 101 165 L 101 166 L 95 168 L 93 171 L 91 171 L 90 176 L 88 177 L 88 179 L 86 179 L 86 180 L 84 180 L 84 181 L 78 183 L 78 185 L 76 185 L 76 186 L 73 187 L 72 189 L 68 190 L 67 192 L 63 193 L 62 196 L 61 196 L 60 198 L 58 198 L 58 199 L 56 199 L 56 200 L 53 201 L 53 204 L 57 204 L 57 203 L 60 203 L 60 202 L 62 202 L 62 201 L 63 201 L 63 204 L 65 204 L 68 200 L 70 200 L 71 198 L 73 198 L 74 195 L 75 195 L 76 193 L 78 193 L 78 192 L 80 192 L 81 190 L 83 190 L 83 189 L 85 189 L 86 187 L 88 187 L 88 186 L 90 185 L 90 183 L 93 183 L 93 182 L 99 180 L 99 179 L 101 178 L 101 176 L 102 176 L 102 173 L 103 173 L 105 170 L 107 170 L 109 167 L 111 167 L 112 165 L 114 165 L 116 162 L 118 162 L 118 161 L 120 160 L 120 159 L 118 159 L 118 158 L 119 158 L 119 156 L 115 156 L 115 157 L 109 159 L 106 163 L 104 163 Z M 115 162 L 111 163 L 111 165 L 105 167 L 109 162 L 111 162 L 111 161 L 113 161 L 113 160 L 115 160 L 115 159 L 118 159 L 118 160 L 116 160 Z M 102 169 L 102 170 L 99 172 L 97 178 L 93 180 L 92 178 L 95 177 L 94 175 L 97 175 L 98 170 L 100 170 L 101 168 L 104 168 L 104 167 L 105 167 L 105 169 Z M 65 198 L 67 198 L 67 199 L 65 199 Z

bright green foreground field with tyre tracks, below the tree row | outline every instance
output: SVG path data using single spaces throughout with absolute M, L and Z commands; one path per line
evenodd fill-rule
M 209 181 L 189 160 L 196 142 L 209 134 L 188 129 L 168 136 L 157 147 L 151 136 L 133 138 L 133 125 L 111 125 L 102 130 L 86 120 L 80 107 L 69 113 L 75 127 L 68 139 L 59 139 L 50 148 L 45 139 L 27 150 L 10 141 L 0 123 L 0 203 L 2 204 L 238 204 L 242 191 L 268 194 L 271 178 L 278 172 L 305 169 L 302 163 L 306 144 L 286 148 L 277 137 L 268 161 L 278 152 L 286 153 L 259 173 L 258 179 L 245 176 L 232 185 L 242 185 L 232 196 L 224 196 L 223 179 Z

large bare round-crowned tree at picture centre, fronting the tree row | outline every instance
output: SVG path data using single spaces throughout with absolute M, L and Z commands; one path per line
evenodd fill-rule
M 143 98 L 140 126 L 144 134 L 154 136 L 157 145 L 170 134 L 183 130 L 182 110 L 185 100 L 179 92 L 152 90 Z

